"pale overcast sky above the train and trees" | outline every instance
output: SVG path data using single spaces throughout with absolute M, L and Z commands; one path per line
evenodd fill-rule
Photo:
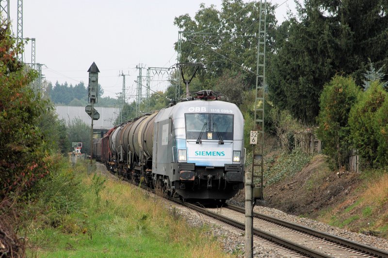
M 16 34 L 17 5 L 16 0 L 10 2 Z M 42 73 L 53 85 L 58 81 L 74 86 L 83 81 L 87 86 L 87 70 L 96 62 L 104 96 L 116 97 L 121 92 L 121 71 L 129 74 L 126 95 L 131 96 L 136 92 L 137 65 L 170 67 L 177 62 L 174 17 L 186 13 L 194 17 L 201 2 L 221 9 L 222 0 L 24 0 L 23 37 L 35 38 L 35 61 L 45 64 Z M 283 3 L 276 9 L 279 22 L 288 8 L 294 9 L 293 0 L 272 3 Z M 24 58 L 31 62 L 31 43 Z M 165 79 L 155 75 L 151 89 L 164 90 Z

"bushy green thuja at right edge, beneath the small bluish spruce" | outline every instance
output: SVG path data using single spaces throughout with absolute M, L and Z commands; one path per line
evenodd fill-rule
M 379 116 L 381 120 L 377 124 L 376 116 L 380 112 L 387 112 L 387 110 L 378 112 L 387 98 L 388 93 L 383 89 L 382 84 L 376 81 L 360 95 L 358 102 L 350 111 L 350 138 L 366 165 L 374 166 L 380 163 L 378 160 L 379 133 L 376 129 L 384 130 L 383 121 L 386 120 L 386 115 Z M 383 132 L 381 137 L 384 138 Z

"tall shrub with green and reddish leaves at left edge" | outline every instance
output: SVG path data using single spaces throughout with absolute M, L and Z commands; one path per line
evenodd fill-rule
M 29 84 L 36 71 L 18 62 L 22 46 L 15 44 L 8 25 L 0 26 L 0 200 L 26 193 L 49 173 L 47 153 L 37 118 L 47 103 Z

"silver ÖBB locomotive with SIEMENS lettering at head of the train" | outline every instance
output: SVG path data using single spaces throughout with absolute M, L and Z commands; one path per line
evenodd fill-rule
M 232 198 L 243 189 L 243 123 L 239 108 L 222 101 L 162 110 L 155 120 L 155 183 L 162 180 L 184 199 Z

